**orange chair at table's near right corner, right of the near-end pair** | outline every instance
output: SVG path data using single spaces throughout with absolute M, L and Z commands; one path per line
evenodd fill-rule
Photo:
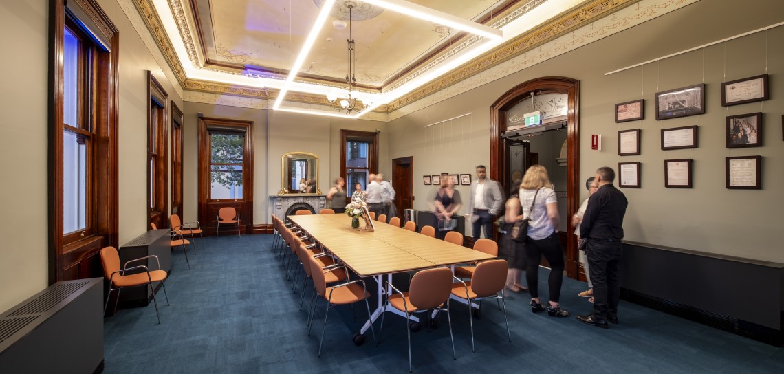
M 500 299 L 503 303 L 503 318 L 506 319 L 506 336 L 512 341 L 512 334 L 509 332 L 509 318 L 506 318 L 506 300 L 503 298 L 503 288 L 506 285 L 506 271 L 509 270 L 506 260 L 490 260 L 477 265 L 474 275 L 470 281 L 456 279 L 452 284 L 452 296 L 468 302 L 468 321 L 471 325 L 471 350 L 477 351 L 474 347 L 474 310 L 471 303 L 485 297 Z

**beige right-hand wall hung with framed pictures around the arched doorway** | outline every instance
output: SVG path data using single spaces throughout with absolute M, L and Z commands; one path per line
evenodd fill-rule
M 468 93 L 452 97 L 390 123 L 390 157 L 413 155 L 414 174 L 470 172 L 488 164 L 489 107 L 508 89 L 532 78 L 559 75 L 580 82 L 580 184 L 602 165 L 617 169 L 618 162 L 642 162 L 642 188 L 623 189 L 630 200 L 624 227 L 626 239 L 682 249 L 694 249 L 757 260 L 784 262 L 779 235 L 784 210 L 784 27 L 699 49 L 681 56 L 604 75 L 621 67 L 703 45 L 742 32 L 781 22 L 781 2 L 747 2 L 728 11 L 726 2 L 704 0 L 640 26 L 604 38 L 542 64 L 529 67 Z M 743 20 L 739 22 L 739 20 Z M 687 25 L 688 27 L 682 27 Z M 720 83 L 752 75 L 771 74 L 771 99 L 735 107 L 721 107 Z M 656 121 L 655 92 L 705 82 L 706 114 Z M 644 98 L 646 118 L 616 124 L 615 103 Z M 764 147 L 724 147 L 725 118 L 732 114 L 764 112 Z M 424 126 L 473 112 L 470 119 L 433 132 Z M 699 148 L 660 150 L 660 130 L 699 125 Z M 432 126 L 432 127 L 436 127 Z M 640 156 L 617 155 L 617 132 L 642 129 Z M 590 134 L 603 135 L 603 150 L 590 151 Z M 724 188 L 724 158 L 763 156 L 763 190 Z M 693 189 L 664 187 L 663 160 L 692 158 Z M 433 187 L 415 183 L 416 209 L 426 209 Z M 464 192 L 465 187 L 460 187 Z M 463 193 L 465 196 L 465 193 Z

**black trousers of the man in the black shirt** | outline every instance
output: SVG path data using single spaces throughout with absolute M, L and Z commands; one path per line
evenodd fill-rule
M 620 241 L 589 240 L 586 245 L 590 281 L 593 283 L 593 318 L 604 321 L 618 314 L 621 300 L 619 263 L 623 254 Z

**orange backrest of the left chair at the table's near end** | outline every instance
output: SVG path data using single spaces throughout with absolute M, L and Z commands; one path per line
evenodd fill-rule
M 504 273 L 506 274 L 506 273 Z M 452 270 L 436 267 L 414 274 L 408 296 L 417 309 L 430 309 L 440 306 L 452 293 Z

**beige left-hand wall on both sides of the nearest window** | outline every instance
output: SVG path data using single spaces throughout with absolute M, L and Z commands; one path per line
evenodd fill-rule
M 122 245 L 147 230 L 147 71 L 152 71 L 180 108 L 182 99 L 165 77 L 116 0 L 99 0 L 120 31 L 119 64 L 119 182 Z M 0 157 L 18 178 L 0 183 L 0 310 L 12 307 L 48 284 L 47 224 L 47 89 L 49 2 L 0 2 L 0 32 L 24 35 L 5 38 L 5 50 L 15 57 L 0 62 L 5 113 Z M 157 52 L 156 52 L 157 53 Z M 163 67 L 169 69 L 169 67 Z M 12 213 L 13 212 L 13 213 Z

